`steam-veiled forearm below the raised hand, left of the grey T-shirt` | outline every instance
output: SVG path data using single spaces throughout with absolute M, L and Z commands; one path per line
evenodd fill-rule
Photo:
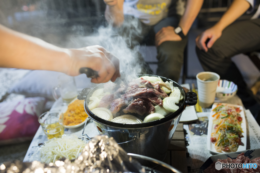
M 120 27 L 124 21 L 123 9 L 118 4 L 114 6 L 107 5 L 105 11 L 105 18 L 108 23 Z

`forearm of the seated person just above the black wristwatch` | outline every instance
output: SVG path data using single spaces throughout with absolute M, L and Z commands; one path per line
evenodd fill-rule
M 196 19 L 199 11 L 202 7 L 204 0 L 188 0 L 185 12 L 180 19 L 179 26 L 183 30 L 183 34 L 187 35 L 189 32 L 192 23 Z

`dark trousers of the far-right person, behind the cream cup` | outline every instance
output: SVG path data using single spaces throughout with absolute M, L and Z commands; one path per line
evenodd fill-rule
M 223 30 L 222 36 L 208 52 L 196 48 L 200 63 L 205 71 L 215 72 L 220 79 L 233 81 L 238 86 L 238 96 L 253 115 L 260 105 L 247 89 L 246 83 L 231 57 L 240 53 L 260 50 L 260 19 L 241 21 Z M 252 108 L 254 107 L 254 108 Z

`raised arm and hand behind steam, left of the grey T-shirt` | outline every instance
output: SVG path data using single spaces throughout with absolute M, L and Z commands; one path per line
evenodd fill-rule
M 124 0 L 104 0 L 107 4 L 105 18 L 108 23 L 120 27 L 124 21 L 123 3 Z

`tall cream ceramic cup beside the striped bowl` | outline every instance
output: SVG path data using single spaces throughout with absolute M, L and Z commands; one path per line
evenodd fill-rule
M 220 76 L 214 72 L 200 72 L 196 78 L 199 104 L 201 107 L 210 107 L 215 100 Z

